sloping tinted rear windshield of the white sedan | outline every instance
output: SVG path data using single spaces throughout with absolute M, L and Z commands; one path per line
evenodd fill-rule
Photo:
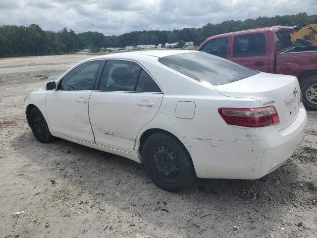
M 232 83 L 259 73 L 205 52 L 165 56 L 159 62 L 199 82 L 212 85 Z

